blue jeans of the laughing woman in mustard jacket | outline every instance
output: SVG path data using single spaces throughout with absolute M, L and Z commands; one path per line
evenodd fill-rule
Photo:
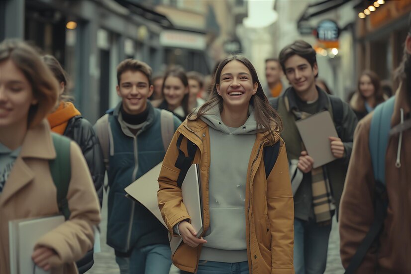
M 220 263 L 200 261 L 197 274 L 249 274 L 248 262 Z

